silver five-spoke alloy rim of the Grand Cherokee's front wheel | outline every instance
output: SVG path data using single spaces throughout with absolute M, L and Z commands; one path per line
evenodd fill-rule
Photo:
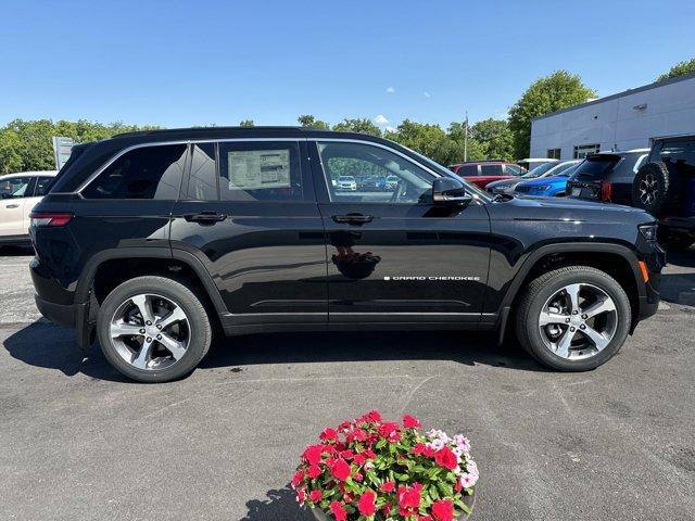
M 601 288 L 568 284 L 545 302 L 538 323 L 551 353 L 568 360 L 586 359 L 612 341 L 618 329 L 618 309 Z

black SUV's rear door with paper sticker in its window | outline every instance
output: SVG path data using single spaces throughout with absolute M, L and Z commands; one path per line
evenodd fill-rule
M 212 276 L 229 327 L 325 323 L 326 244 L 303 139 L 192 144 L 172 247 Z

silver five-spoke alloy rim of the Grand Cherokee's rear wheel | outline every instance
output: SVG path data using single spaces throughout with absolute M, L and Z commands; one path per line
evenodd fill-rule
M 180 360 L 190 343 L 188 316 L 170 298 L 151 293 L 129 297 L 114 313 L 111 342 L 136 369 L 165 369 Z

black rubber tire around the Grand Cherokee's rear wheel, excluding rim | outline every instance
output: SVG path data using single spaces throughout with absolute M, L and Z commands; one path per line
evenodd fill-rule
M 116 351 L 111 339 L 111 319 L 118 307 L 138 294 L 155 294 L 178 304 L 186 314 L 190 330 L 189 343 L 184 356 L 163 369 L 138 369 L 128 364 Z M 167 382 L 191 373 L 207 353 L 212 341 L 212 328 L 207 312 L 191 290 L 180 282 L 166 278 L 146 276 L 130 279 L 114 289 L 102 303 L 97 317 L 97 335 L 101 351 L 109 363 L 126 377 L 139 382 Z

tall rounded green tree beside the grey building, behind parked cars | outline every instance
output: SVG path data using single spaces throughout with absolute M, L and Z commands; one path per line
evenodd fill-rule
M 517 158 L 528 155 L 531 142 L 531 120 L 548 112 L 583 103 L 596 92 L 582 84 L 579 76 L 556 71 L 536 79 L 509 110 L 509 128 L 514 134 Z

